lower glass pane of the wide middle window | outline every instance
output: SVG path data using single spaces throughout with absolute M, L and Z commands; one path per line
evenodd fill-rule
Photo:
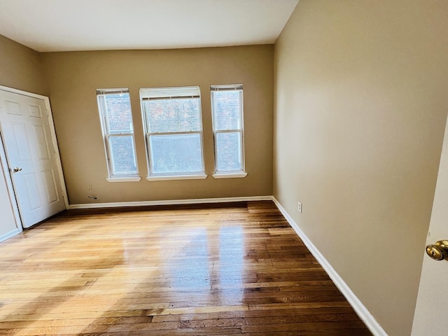
M 202 173 L 200 134 L 149 136 L 155 174 Z

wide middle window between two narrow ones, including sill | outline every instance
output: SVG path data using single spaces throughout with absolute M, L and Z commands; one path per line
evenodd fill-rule
M 205 179 L 200 87 L 140 90 L 148 179 Z

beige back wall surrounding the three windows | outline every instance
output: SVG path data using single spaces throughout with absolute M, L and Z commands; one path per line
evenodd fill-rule
M 273 45 L 42 54 L 70 204 L 272 195 Z M 214 179 L 210 85 L 244 85 L 244 179 Z M 140 87 L 200 85 L 205 180 L 146 181 Z M 129 87 L 142 180 L 109 183 L 97 88 Z M 87 186 L 93 189 L 88 190 Z M 87 195 L 98 197 L 90 200 Z

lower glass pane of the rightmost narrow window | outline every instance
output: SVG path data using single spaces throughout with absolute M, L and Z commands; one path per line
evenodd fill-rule
M 241 170 L 241 133 L 217 133 L 216 172 L 237 172 Z

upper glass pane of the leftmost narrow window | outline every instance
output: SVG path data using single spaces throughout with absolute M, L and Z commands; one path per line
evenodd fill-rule
M 132 111 L 129 93 L 106 94 L 106 120 L 109 134 L 132 133 Z

